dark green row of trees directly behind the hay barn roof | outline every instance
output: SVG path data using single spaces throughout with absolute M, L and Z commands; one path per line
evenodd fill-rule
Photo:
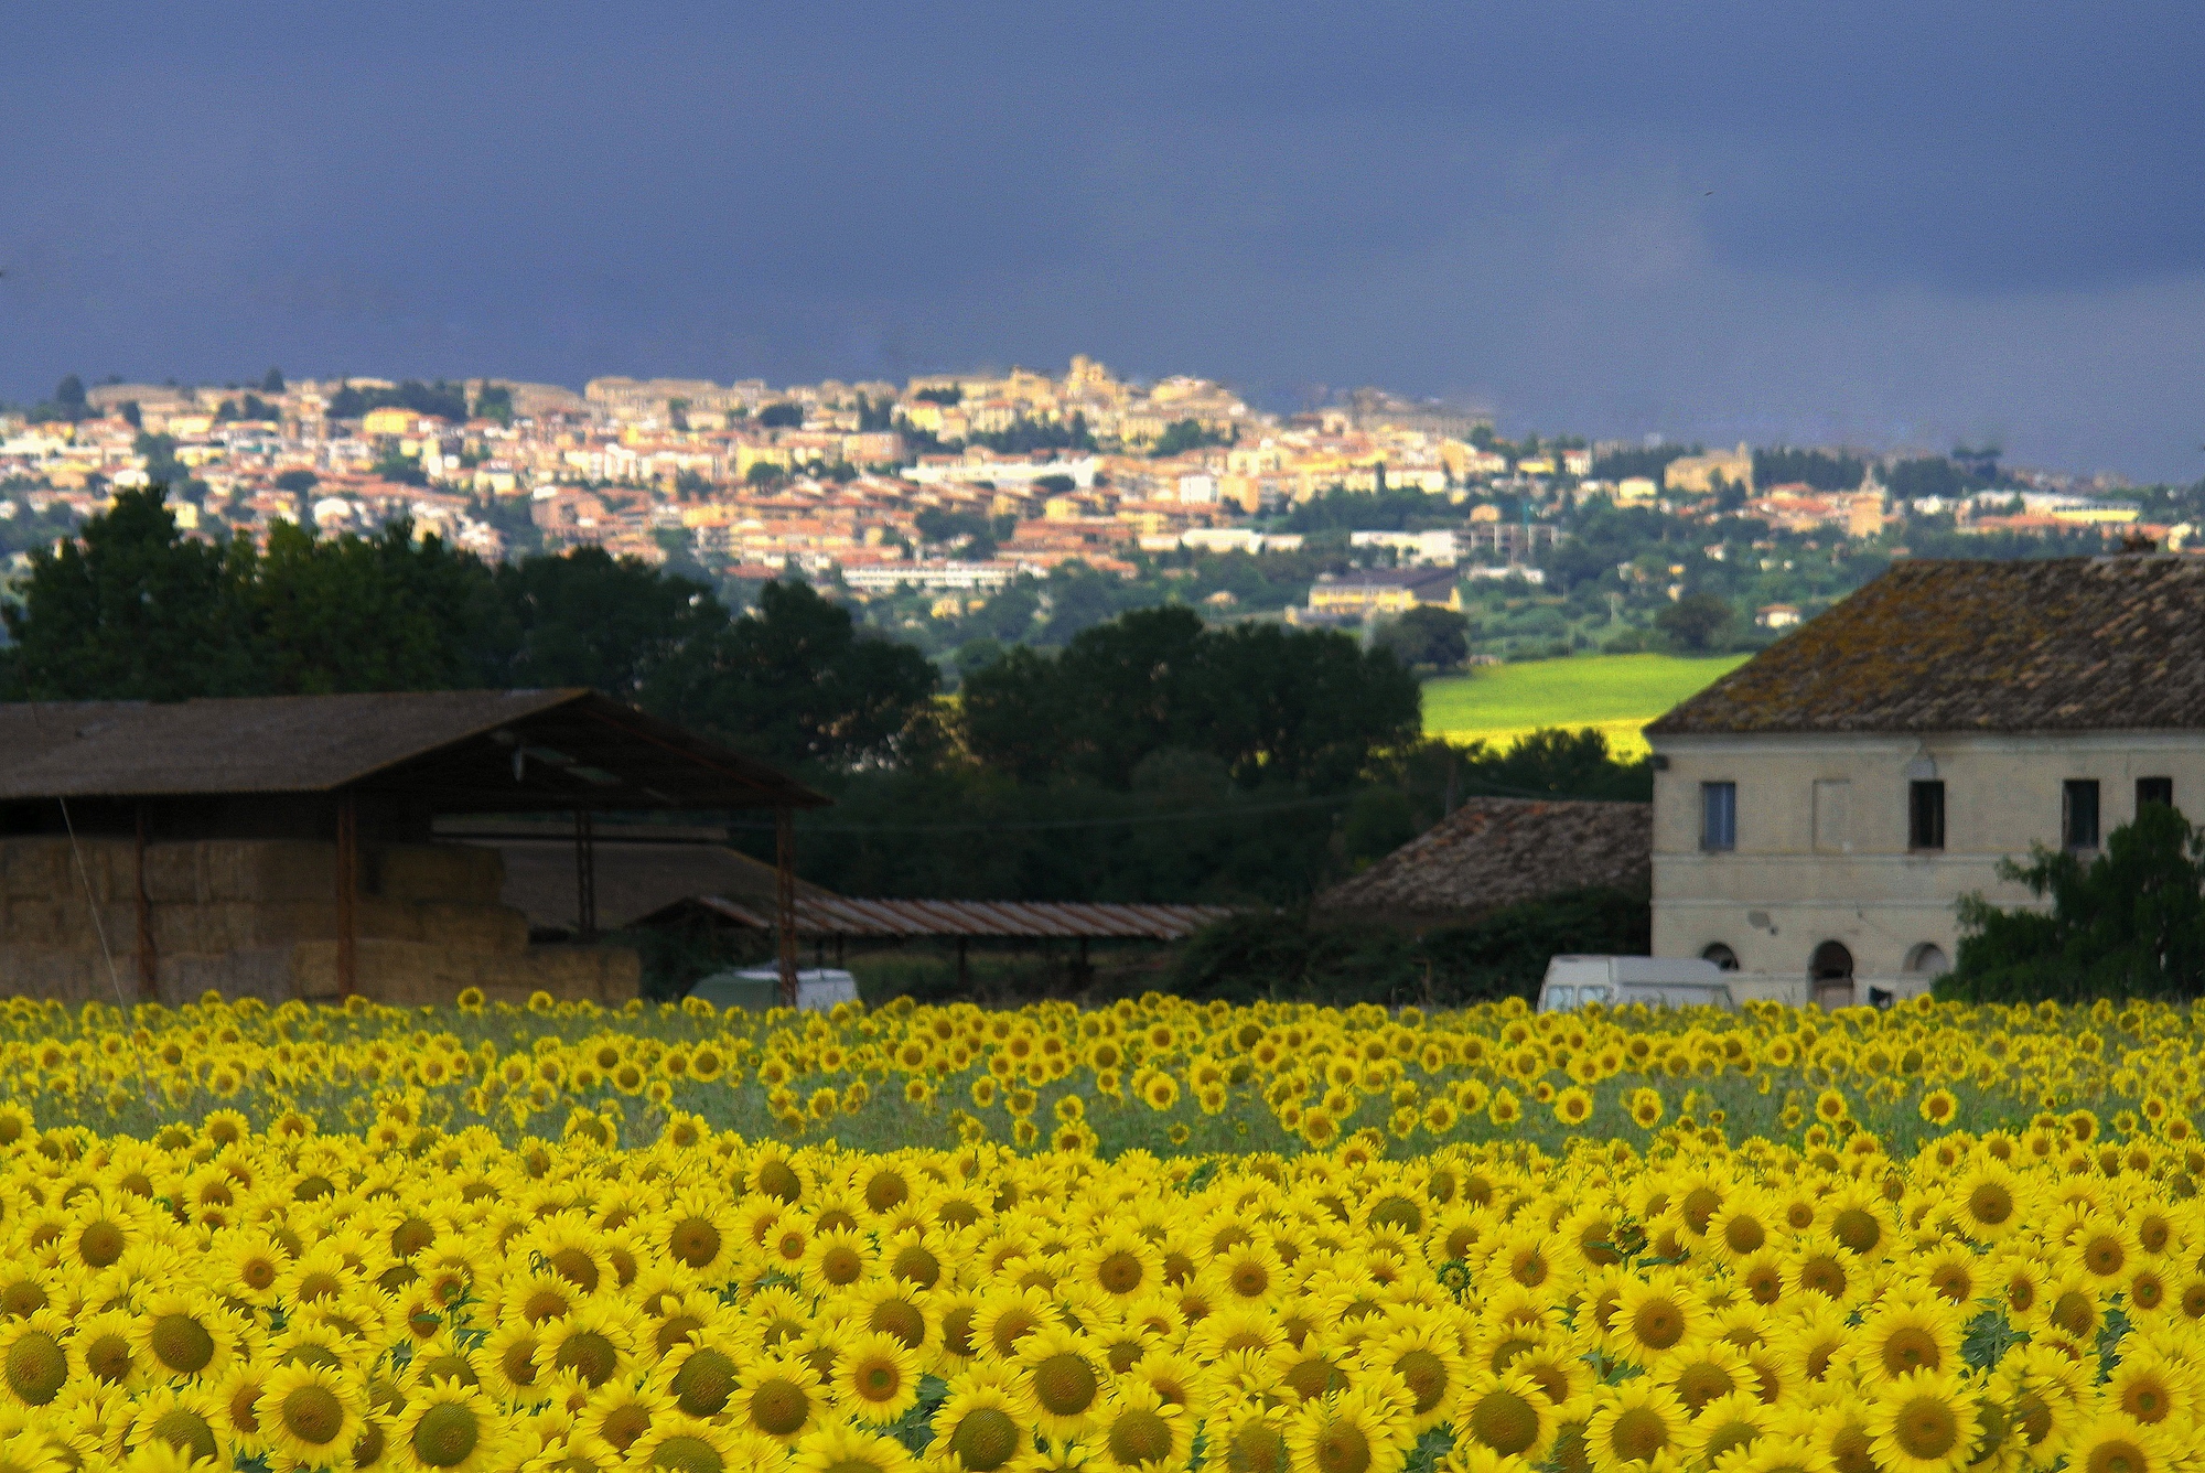
M 800 584 L 743 617 L 595 547 L 490 565 L 404 520 L 198 540 L 161 485 L 33 551 L 0 620 L 15 701 L 591 686 L 792 767 L 882 759 L 935 690 Z

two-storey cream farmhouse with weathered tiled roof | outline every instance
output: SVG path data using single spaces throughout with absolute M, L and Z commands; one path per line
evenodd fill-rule
M 1647 728 L 1654 953 L 1843 1006 L 1947 970 L 2000 860 L 2205 803 L 2205 560 L 1899 562 Z

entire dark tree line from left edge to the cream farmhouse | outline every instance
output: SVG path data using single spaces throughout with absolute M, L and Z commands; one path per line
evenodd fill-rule
M 4 699 L 591 686 L 829 792 L 805 873 L 847 893 L 1286 904 L 1475 792 L 1652 785 L 1590 732 L 1424 739 L 1416 677 L 1338 633 L 1133 611 L 1003 648 L 953 701 L 800 582 L 732 609 L 602 549 L 490 565 L 406 523 L 203 540 L 163 487 L 35 549 L 0 617 Z

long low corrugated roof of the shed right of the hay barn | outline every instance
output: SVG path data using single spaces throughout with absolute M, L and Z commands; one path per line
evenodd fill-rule
M 695 904 L 732 922 L 770 931 L 774 906 L 725 895 Z M 800 935 L 981 935 L 981 937 L 1129 937 L 1177 942 L 1219 922 L 1226 906 L 1105 904 L 1072 900 L 847 900 L 800 897 Z

